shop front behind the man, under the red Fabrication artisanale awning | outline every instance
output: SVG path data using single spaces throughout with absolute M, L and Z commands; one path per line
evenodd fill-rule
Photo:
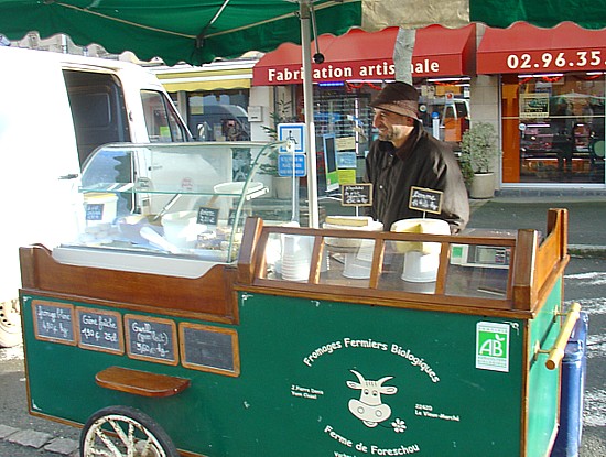
M 374 33 L 354 29 L 342 36 L 321 35 L 312 43 L 312 54 L 324 56 L 312 69 L 318 153 L 323 152 L 323 138 L 334 134 L 339 152 L 355 152 L 364 160 L 375 138 L 369 102 L 385 81 L 396 78 L 397 35 L 398 28 Z M 430 25 L 416 31 L 411 74 L 420 93 L 421 117 L 428 130 L 455 148 L 469 122 L 475 51 L 475 24 L 461 29 Z M 294 118 L 302 113 L 301 55 L 301 46 L 285 43 L 261 57 L 252 69 L 253 87 L 292 89 L 293 100 L 289 101 L 300 108 L 293 109 Z M 279 107 L 273 109 L 275 112 Z

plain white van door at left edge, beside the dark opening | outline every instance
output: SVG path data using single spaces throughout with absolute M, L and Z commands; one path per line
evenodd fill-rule
M 42 55 L 41 55 L 42 54 Z M 61 66 L 43 53 L 0 47 L 0 301 L 17 297 L 19 247 L 77 236 L 78 154 Z M 80 205 L 82 207 L 82 205 Z

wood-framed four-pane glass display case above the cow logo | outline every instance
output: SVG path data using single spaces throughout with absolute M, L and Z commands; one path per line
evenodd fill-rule
M 498 235 L 500 233 L 500 238 Z M 516 233 L 490 237 L 269 227 L 258 278 L 359 287 L 377 295 L 414 293 L 510 300 Z M 267 238 L 266 238 L 267 237 Z

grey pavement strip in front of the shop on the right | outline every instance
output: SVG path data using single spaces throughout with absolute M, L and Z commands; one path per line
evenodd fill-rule
M 487 200 L 469 200 L 468 228 L 547 228 L 550 208 L 569 210 L 571 254 L 606 258 L 606 194 L 522 195 L 504 193 Z

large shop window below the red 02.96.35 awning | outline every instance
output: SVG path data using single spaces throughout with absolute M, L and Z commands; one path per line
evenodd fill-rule
M 527 75 L 518 87 L 519 115 L 504 119 L 504 144 L 519 141 L 517 182 L 603 184 L 604 76 Z

